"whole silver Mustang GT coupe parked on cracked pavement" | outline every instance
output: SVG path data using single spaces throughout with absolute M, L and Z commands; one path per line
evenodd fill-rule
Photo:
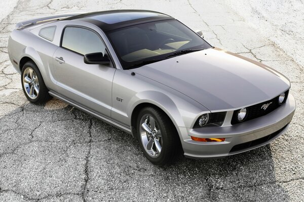
M 20 22 L 8 53 L 27 99 L 56 97 L 137 138 L 152 163 L 217 158 L 283 134 L 295 99 L 276 70 L 142 10 Z

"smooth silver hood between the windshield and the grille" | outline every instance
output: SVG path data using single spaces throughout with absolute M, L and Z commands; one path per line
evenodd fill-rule
M 196 100 L 211 112 L 272 99 L 289 89 L 277 71 L 245 57 L 210 48 L 133 69 Z

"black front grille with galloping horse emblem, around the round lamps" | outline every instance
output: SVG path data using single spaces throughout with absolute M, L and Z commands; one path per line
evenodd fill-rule
M 286 102 L 287 97 L 288 97 L 288 90 L 285 92 L 285 99 L 283 101 L 283 104 Z M 267 105 L 267 104 L 270 104 L 270 105 L 267 107 L 267 109 L 263 110 L 262 106 Z M 280 107 L 279 96 L 277 96 L 277 97 L 275 97 L 271 100 L 268 100 L 266 102 L 247 107 L 246 108 L 247 109 L 247 117 L 245 118 L 244 121 L 249 121 L 251 119 L 255 119 L 255 118 L 267 115 L 267 114 L 271 113 L 272 111 L 276 110 L 278 107 Z M 239 113 L 239 110 L 234 111 L 232 119 L 231 119 L 231 124 L 232 125 L 240 123 L 238 121 L 238 113 Z

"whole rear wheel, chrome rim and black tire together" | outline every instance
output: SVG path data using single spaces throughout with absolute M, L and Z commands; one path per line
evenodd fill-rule
M 25 63 L 22 68 L 21 84 L 26 98 L 31 103 L 42 104 L 51 98 L 38 67 L 32 61 Z

